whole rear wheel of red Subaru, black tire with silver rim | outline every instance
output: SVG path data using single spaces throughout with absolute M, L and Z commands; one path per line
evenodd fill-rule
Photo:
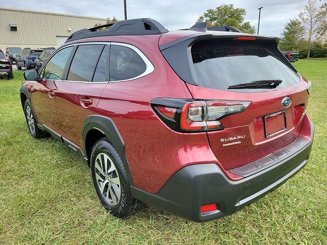
M 125 218 L 142 208 L 143 203 L 132 197 L 122 159 L 107 138 L 95 143 L 90 160 L 92 180 L 106 210 L 116 217 Z

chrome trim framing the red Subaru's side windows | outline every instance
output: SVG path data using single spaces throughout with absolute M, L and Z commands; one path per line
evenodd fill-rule
M 138 78 L 142 78 L 142 77 L 145 77 L 145 76 L 151 74 L 154 71 L 153 64 L 148 59 L 148 57 L 146 57 L 146 55 L 143 54 L 143 52 L 141 50 L 139 50 L 134 45 L 131 45 L 131 44 L 128 44 L 128 43 L 124 43 L 124 42 L 82 42 L 82 43 L 68 44 L 68 45 L 65 45 L 65 46 L 62 46 L 62 47 L 58 48 L 58 50 L 56 50 L 56 52 L 54 52 L 48 58 L 48 60 L 46 60 L 46 62 L 41 66 L 40 70 L 42 70 L 43 67 L 45 67 L 45 65 L 52 59 L 52 57 L 55 54 L 57 54 L 60 50 L 63 50 L 64 48 L 69 47 L 69 46 L 80 46 L 80 45 L 90 45 L 90 44 L 103 44 L 103 45 L 108 45 L 109 44 L 109 45 L 117 45 L 117 46 L 129 47 L 131 50 L 135 51 L 135 53 L 138 54 L 139 57 L 141 57 L 141 59 L 143 60 L 143 62 L 146 65 L 146 69 L 143 72 L 143 74 L 138 75 L 138 76 L 136 76 L 134 78 L 126 79 L 126 80 L 105 81 L 105 82 L 85 82 L 85 81 L 70 81 L 70 80 L 55 80 L 55 81 L 63 81 L 63 82 L 69 82 L 69 83 L 92 83 L 92 84 L 97 84 L 97 83 L 118 83 L 118 82 L 126 82 L 126 81 L 135 80 L 135 79 L 138 79 Z M 110 73 L 109 73 L 109 76 L 110 76 Z

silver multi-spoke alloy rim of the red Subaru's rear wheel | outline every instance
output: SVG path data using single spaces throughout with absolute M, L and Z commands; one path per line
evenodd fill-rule
M 121 198 L 121 182 L 118 171 L 107 154 L 98 154 L 95 162 L 95 174 L 103 198 L 110 205 L 117 205 Z

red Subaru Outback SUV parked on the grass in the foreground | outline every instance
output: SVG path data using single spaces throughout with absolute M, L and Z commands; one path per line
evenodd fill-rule
M 277 38 L 205 23 L 168 31 L 147 18 L 96 29 L 26 71 L 20 98 L 32 136 L 80 155 L 113 215 L 146 203 L 216 219 L 306 165 L 311 82 Z

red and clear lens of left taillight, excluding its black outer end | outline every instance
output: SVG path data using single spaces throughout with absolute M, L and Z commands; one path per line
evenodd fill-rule
M 222 130 L 219 119 L 244 111 L 248 101 L 197 101 L 186 103 L 180 116 L 180 127 L 186 131 Z

